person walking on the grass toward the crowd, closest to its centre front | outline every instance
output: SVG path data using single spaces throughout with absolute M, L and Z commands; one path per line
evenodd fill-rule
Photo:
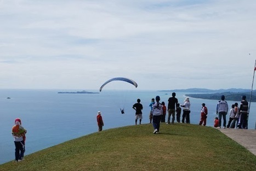
M 160 97 L 156 96 L 156 103 L 153 104 L 153 128 L 154 134 L 159 133 L 161 115 L 163 114 L 162 104 L 160 103 Z

